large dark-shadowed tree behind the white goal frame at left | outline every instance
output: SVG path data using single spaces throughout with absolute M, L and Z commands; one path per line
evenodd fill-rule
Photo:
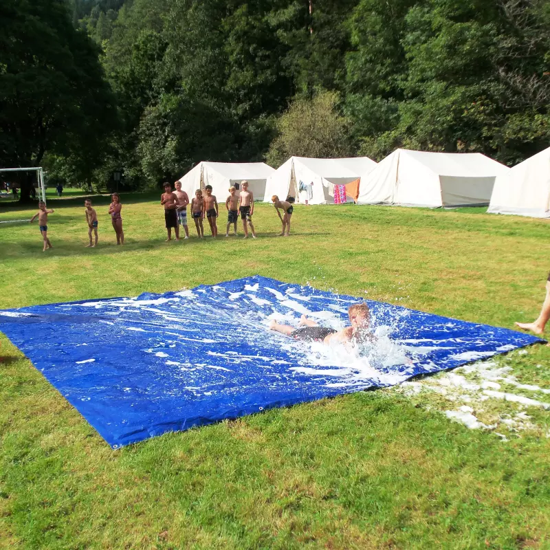
M 63 0 L 0 6 L 0 153 L 3 166 L 39 166 L 46 152 L 99 162 L 116 120 L 111 89 L 89 37 Z M 22 182 L 21 200 L 29 198 Z

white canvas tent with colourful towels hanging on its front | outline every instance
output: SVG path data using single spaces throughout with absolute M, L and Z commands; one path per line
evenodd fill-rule
M 335 185 L 349 184 L 375 166 L 376 163 L 368 157 L 290 157 L 267 178 L 265 201 L 270 202 L 272 195 L 277 195 L 283 200 L 291 195 L 296 197 L 298 203 L 305 203 L 307 200 L 309 204 L 331 204 L 334 201 Z

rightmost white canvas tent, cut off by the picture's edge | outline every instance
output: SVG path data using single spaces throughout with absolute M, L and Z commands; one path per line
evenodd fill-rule
M 496 178 L 487 212 L 550 218 L 550 147 Z

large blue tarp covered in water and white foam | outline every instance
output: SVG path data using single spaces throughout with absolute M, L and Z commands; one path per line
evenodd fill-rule
M 347 325 L 353 296 L 261 276 L 183 292 L 0 311 L 0 329 L 111 445 L 390 386 L 540 339 L 367 300 L 360 350 L 268 329 Z

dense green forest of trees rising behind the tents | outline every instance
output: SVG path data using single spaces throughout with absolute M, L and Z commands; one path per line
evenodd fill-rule
M 0 164 L 69 183 L 550 145 L 548 0 L 3 0 L 0 30 Z

